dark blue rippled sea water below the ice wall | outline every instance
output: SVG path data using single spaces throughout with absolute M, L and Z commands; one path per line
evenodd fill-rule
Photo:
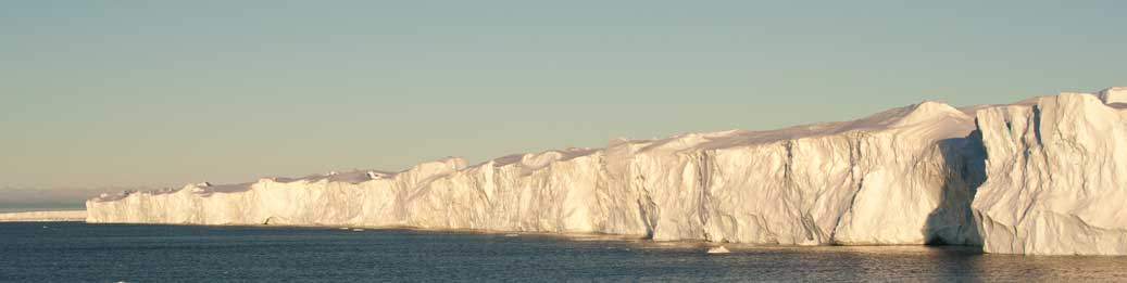
M 605 236 L 0 223 L 0 281 L 1120 281 L 1127 257 L 762 247 Z

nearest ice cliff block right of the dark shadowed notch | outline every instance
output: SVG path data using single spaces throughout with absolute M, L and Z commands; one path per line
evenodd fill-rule
M 986 252 L 1127 255 L 1127 112 L 1103 103 L 1119 95 L 978 112 L 988 181 L 974 214 Z

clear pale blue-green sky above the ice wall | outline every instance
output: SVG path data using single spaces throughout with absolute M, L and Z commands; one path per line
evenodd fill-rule
M 1124 1 L 2 1 L 0 207 L 1127 85 Z

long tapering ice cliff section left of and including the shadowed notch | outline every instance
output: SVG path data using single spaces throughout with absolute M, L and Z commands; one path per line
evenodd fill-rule
M 398 174 L 105 195 L 90 222 L 406 226 L 655 240 L 968 243 L 958 148 L 973 119 L 923 102 L 850 122 L 691 134 Z

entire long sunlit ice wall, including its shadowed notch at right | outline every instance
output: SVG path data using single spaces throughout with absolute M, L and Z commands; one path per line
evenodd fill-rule
M 88 222 L 602 232 L 1127 255 L 1127 89 L 844 122 L 613 140 L 87 201 Z M 974 115 L 975 117 L 971 117 Z

